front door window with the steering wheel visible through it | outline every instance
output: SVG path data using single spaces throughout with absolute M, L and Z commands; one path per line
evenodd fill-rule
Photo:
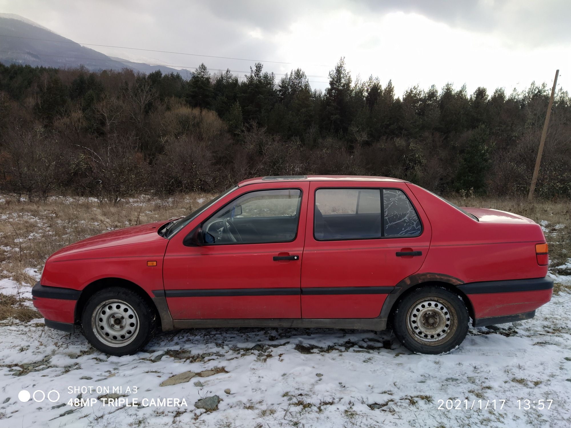
M 297 234 L 299 189 L 248 192 L 225 205 L 204 225 L 206 244 L 293 241 Z

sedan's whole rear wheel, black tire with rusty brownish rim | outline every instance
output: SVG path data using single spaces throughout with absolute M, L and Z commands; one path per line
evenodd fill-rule
M 460 345 L 470 316 L 462 298 L 439 286 L 424 286 L 396 304 L 392 328 L 401 344 L 419 354 L 444 354 Z

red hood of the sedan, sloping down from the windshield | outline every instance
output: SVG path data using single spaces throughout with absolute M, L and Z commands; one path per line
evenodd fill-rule
M 78 253 L 92 249 L 116 247 L 117 245 L 138 244 L 149 241 L 165 240 L 157 233 L 157 230 L 167 221 L 156 221 L 155 223 L 140 224 L 138 226 L 116 229 L 111 232 L 100 233 L 77 243 L 67 245 L 53 253 L 51 257 Z

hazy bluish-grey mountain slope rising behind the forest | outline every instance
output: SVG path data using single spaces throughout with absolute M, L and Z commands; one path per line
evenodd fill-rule
M 7 13 L 0 13 L 0 62 L 57 68 L 75 68 L 83 64 L 93 71 L 131 68 L 145 74 L 156 70 L 163 74 L 179 72 L 171 67 L 111 58 L 62 37 L 30 19 Z M 186 70 L 180 73 L 183 77 L 187 76 Z

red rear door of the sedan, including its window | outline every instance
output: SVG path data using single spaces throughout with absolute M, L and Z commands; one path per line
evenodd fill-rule
M 388 184 L 388 185 L 385 185 Z M 375 318 L 417 272 L 431 228 L 404 183 L 312 181 L 301 268 L 302 318 Z

